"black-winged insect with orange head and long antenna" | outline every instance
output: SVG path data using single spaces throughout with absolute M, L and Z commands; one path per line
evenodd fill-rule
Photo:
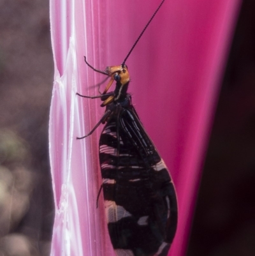
M 99 96 L 105 114 L 84 137 L 105 124 L 99 139 L 99 162 L 103 178 L 106 219 L 113 249 L 118 256 L 166 256 L 177 229 L 177 197 L 166 165 L 159 156 L 127 93 L 129 72 L 126 60 L 161 2 L 120 66 L 105 71 L 110 77 Z M 113 82 L 114 91 L 108 92 Z M 101 189 L 100 189 L 101 190 Z M 99 192 L 100 193 L 100 192 Z M 99 196 L 99 195 L 98 195 Z

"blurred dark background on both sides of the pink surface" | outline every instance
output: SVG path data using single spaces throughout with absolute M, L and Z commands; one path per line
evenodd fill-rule
M 187 256 L 255 255 L 254 4 L 231 46 Z M 0 0 L 0 256 L 50 252 L 53 72 L 48 1 Z

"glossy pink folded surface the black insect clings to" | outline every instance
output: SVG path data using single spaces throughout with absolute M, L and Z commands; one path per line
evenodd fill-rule
M 133 103 L 168 165 L 179 199 L 179 225 L 169 255 L 184 255 L 208 130 L 238 11 L 238 0 L 166 0 L 126 64 Z M 115 255 L 105 224 L 98 140 L 85 135 L 103 109 L 96 68 L 122 63 L 160 1 L 51 0 L 55 80 L 50 163 L 56 216 L 52 255 Z M 103 88 L 103 86 L 101 87 Z

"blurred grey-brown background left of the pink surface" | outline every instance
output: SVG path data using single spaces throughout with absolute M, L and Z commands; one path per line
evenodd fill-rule
M 0 255 L 49 255 L 48 1 L 0 0 Z

